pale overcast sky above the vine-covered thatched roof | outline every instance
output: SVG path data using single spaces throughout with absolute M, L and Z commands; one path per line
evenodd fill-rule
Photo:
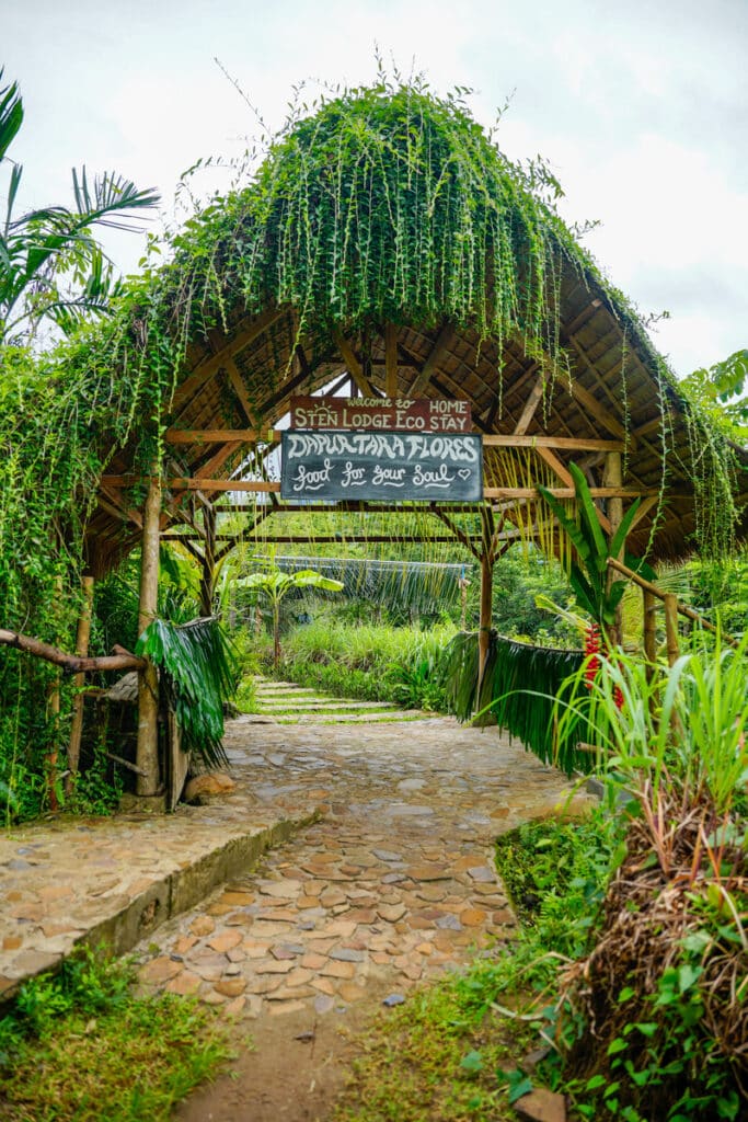
M 473 112 L 512 158 L 542 154 L 569 221 L 677 374 L 748 346 L 748 0 L 0 0 L 26 109 L 21 204 L 70 201 L 70 169 L 117 169 L 174 213 L 181 173 L 238 156 L 293 86 L 363 84 L 375 48 Z M 228 173 L 227 173 L 228 174 Z M 205 180 L 207 187 L 209 181 Z M 214 182 L 214 181 L 210 181 Z M 6 180 L 0 192 L 4 192 Z M 133 270 L 140 241 L 110 242 Z

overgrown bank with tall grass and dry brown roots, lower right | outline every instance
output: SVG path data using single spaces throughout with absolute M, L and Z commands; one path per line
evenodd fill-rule
M 627 800 L 597 941 L 562 991 L 583 1116 L 708 1122 L 745 1107 L 747 653 L 748 640 L 718 641 L 654 673 L 621 656 L 591 691 L 573 683 L 611 799 Z

